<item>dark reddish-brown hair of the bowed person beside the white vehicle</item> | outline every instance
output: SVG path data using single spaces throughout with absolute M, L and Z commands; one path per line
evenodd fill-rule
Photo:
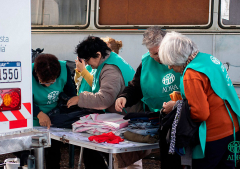
M 40 54 L 35 59 L 34 70 L 43 82 L 57 79 L 61 72 L 58 58 L 52 54 Z

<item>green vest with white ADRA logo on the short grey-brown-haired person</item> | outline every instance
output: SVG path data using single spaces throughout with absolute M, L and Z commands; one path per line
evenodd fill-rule
M 180 73 L 159 64 L 147 52 L 142 56 L 140 84 L 143 93 L 142 101 L 151 111 L 159 111 L 163 102 L 171 100 L 169 94 L 180 91 Z

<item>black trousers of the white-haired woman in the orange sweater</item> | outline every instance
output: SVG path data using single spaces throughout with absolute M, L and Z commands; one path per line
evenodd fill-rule
M 236 140 L 239 140 L 239 132 Z M 228 145 L 233 141 L 233 135 L 220 140 L 206 143 L 205 158 L 194 159 L 193 169 L 234 169 L 234 153 L 228 150 Z M 238 154 L 237 154 L 238 157 Z M 237 158 L 236 161 L 238 161 Z

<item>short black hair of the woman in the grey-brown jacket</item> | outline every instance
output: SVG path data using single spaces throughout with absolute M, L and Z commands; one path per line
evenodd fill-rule
M 89 60 L 90 58 L 97 58 L 97 52 L 100 52 L 102 54 L 102 58 L 105 58 L 108 51 L 111 52 L 111 49 L 107 46 L 107 44 L 102 39 L 95 36 L 88 36 L 80 42 L 75 49 L 75 53 L 78 57 L 86 60 Z

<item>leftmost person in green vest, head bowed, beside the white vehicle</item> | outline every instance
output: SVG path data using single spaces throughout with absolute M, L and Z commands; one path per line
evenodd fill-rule
M 40 54 L 32 64 L 33 126 L 50 128 L 48 112 L 57 106 L 58 95 L 76 96 L 71 72 L 65 61 L 52 54 Z M 51 140 L 51 147 L 45 151 L 46 168 L 60 168 L 60 144 Z

